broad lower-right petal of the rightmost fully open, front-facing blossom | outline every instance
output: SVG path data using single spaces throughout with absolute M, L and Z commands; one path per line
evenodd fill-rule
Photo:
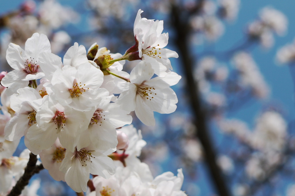
M 171 88 L 154 90 L 153 92 L 156 93 L 154 98 L 145 102 L 151 110 L 161 114 L 170 114 L 176 110 L 178 99 Z

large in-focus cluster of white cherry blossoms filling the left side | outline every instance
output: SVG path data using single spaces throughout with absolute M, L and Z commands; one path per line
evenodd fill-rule
M 6 59 L 14 70 L 1 81 L 7 87 L 1 93 L 9 119 L 4 123 L 5 139 L 18 142 L 24 136 L 26 147 L 40 155 L 50 175 L 76 192 L 86 192 L 92 174 L 98 175 L 96 190 L 106 191 L 102 195 L 116 190 L 114 195 L 147 194 L 147 189 L 147 195 L 186 195 L 180 190 L 181 170 L 178 177 L 165 173 L 153 180 L 148 166 L 137 159 L 145 145 L 140 132 L 123 127 L 132 122 L 132 111 L 153 126 L 154 111 L 172 113 L 178 102 L 170 86 L 181 76 L 171 72 L 168 59 L 178 55 L 164 48 L 168 33 L 162 33 L 163 21 L 141 18 L 141 13 L 134 24 L 136 43 L 124 55 L 111 54 L 96 43 L 86 51 L 75 43 L 62 61 L 51 53 L 47 36 L 38 33 L 26 41 L 25 49 L 13 43 L 7 49 Z M 122 71 L 125 60 L 141 61 L 128 74 Z M 145 173 L 140 173 L 141 167 Z

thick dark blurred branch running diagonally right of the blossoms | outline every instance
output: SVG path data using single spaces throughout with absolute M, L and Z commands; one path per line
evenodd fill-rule
M 200 1 L 199 3 L 202 3 Z M 186 75 L 187 94 L 190 98 L 192 112 L 194 114 L 194 124 L 197 127 L 196 136 L 199 138 L 204 148 L 204 158 L 209 167 L 211 178 L 214 182 L 218 195 L 229 196 L 230 192 L 222 177 L 220 168 L 216 164 L 216 153 L 214 151 L 209 129 L 207 127 L 206 110 L 201 106 L 201 97 L 199 94 L 198 84 L 193 77 L 193 60 L 188 45 L 189 24 L 188 16 L 181 13 L 181 8 L 172 4 L 171 6 L 171 24 L 176 31 L 176 46 L 178 47 L 183 69 Z

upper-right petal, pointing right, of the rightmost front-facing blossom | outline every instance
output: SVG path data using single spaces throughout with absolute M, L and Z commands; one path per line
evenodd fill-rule
M 155 77 L 145 82 L 146 85 L 154 87 L 155 89 L 165 89 L 178 83 L 181 76 L 175 72 L 169 72 L 165 77 Z

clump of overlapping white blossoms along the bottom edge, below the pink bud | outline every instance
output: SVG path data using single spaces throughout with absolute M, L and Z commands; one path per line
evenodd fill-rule
M 148 165 L 141 162 L 133 167 L 117 167 L 115 174 L 109 179 L 94 177 L 93 183 L 96 193 L 101 195 L 186 195 L 181 191 L 181 169 L 178 169 L 177 177 L 172 172 L 165 172 L 153 179 Z

